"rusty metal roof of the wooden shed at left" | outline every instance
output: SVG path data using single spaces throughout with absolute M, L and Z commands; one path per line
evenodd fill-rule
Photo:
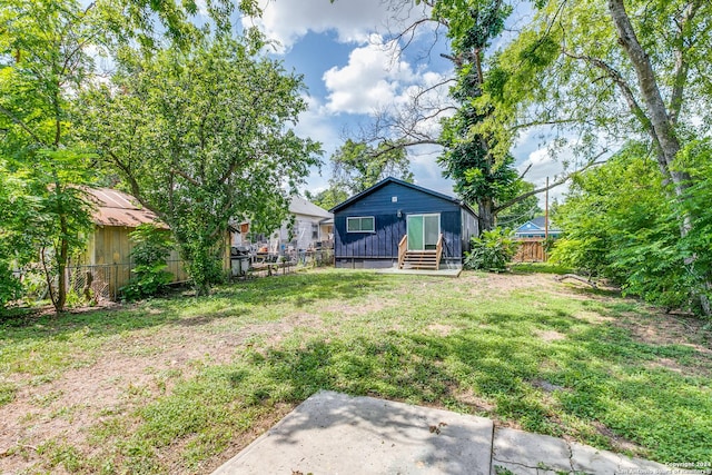
M 89 201 L 95 205 L 91 220 L 99 226 L 135 228 L 152 224 L 168 229 L 154 211 L 141 208 L 131 195 L 111 188 L 86 188 Z

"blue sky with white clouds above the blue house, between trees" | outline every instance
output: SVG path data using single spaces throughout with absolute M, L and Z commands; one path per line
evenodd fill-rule
M 320 172 L 314 168 L 307 178 L 306 189 L 312 192 L 328 186 L 328 157 L 346 138 L 367 128 L 376 111 L 398 110 L 419 85 L 452 77 L 451 62 L 439 56 L 448 52 L 447 44 L 441 40 L 433 46 L 431 29 L 419 30 L 407 48 L 387 40 L 389 30 L 398 30 L 398 21 L 383 0 L 260 1 L 263 17 L 243 19 L 243 26 L 257 24 L 274 39 L 273 55 L 304 75 L 308 88 L 309 109 L 296 129 L 300 136 L 320 141 L 325 151 Z M 414 14 L 419 13 L 419 6 L 412 8 Z M 407 11 L 397 17 L 407 21 Z M 444 103 L 446 91 L 432 93 L 429 100 Z M 425 127 L 437 131 L 438 125 Z M 538 132 L 520 137 L 512 152 L 521 170 L 532 164 L 526 179 L 543 185 L 547 176 L 561 172 L 561 165 L 550 157 Z M 453 182 L 443 178 L 436 164 L 438 152 L 435 147 L 409 149 L 415 182 L 454 196 Z M 550 198 L 561 199 L 563 191 L 558 187 Z M 543 205 L 542 200 L 543 195 Z

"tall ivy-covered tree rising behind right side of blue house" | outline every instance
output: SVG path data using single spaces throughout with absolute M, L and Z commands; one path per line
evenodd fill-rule
M 423 17 L 415 18 L 394 38 L 407 47 L 411 43 L 407 39 L 416 36 L 423 24 L 434 24 L 434 38 L 445 30 L 452 50 L 441 56 L 453 62 L 455 78 L 424 87 L 395 117 L 386 117 L 387 113 L 377 117 L 376 131 L 372 135 L 394 137 L 392 146 L 402 148 L 443 147 L 438 162 L 444 168 L 444 176 L 452 178 L 455 191 L 477 209 L 481 231 L 493 229 L 497 216 L 507 208 L 570 178 L 565 175 L 548 187 L 523 191 L 523 177 L 516 171 L 514 157 L 510 154 L 512 136 L 491 126 L 493 118 L 500 115 L 494 109 L 497 105 L 488 100 L 487 88 L 497 81 L 497 77 L 492 77 L 485 55 L 504 31 L 512 4 L 503 0 L 416 0 L 415 3 L 422 7 Z M 389 4 L 394 17 L 400 13 L 414 16 L 413 1 L 390 0 Z M 451 88 L 452 102 L 424 99 L 432 90 L 444 87 Z M 423 127 L 434 119 L 443 125 L 438 136 L 428 133 L 425 130 L 429 128 Z

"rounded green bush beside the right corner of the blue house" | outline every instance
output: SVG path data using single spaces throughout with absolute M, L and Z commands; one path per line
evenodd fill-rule
M 465 253 L 466 269 L 503 271 L 516 254 L 520 244 L 511 229 L 495 228 L 472 238 L 471 251 Z

